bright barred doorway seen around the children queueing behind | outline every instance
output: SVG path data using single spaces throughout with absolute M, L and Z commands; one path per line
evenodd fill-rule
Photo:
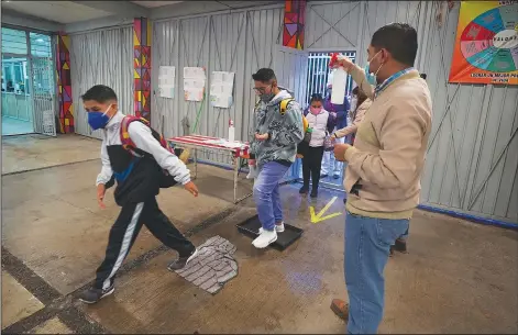
M 308 55 L 308 83 L 307 90 L 304 100 L 304 108 L 309 104 L 311 94 L 320 93 L 324 99 L 329 93 L 328 83 L 330 81 L 331 69 L 329 68 L 329 62 L 331 60 L 331 54 L 339 53 L 348 56 L 352 62 L 356 59 L 356 52 L 310 52 Z M 351 76 L 346 76 L 346 86 L 345 86 L 345 99 L 351 102 L 351 91 L 353 89 L 353 79 Z M 351 123 L 351 120 L 348 115 L 348 124 Z M 346 143 L 351 142 L 351 138 L 344 138 Z M 300 160 L 300 159 L 298 159 Z M 326 167 L 326 168 L 324 168 Z M 302 178 L 302 164 L 297 164 L 298 176 Z M 327 176 L 323 175 L 320 179 L 320 185 L 327 188 L 343 189 L 343 177 L 345 167 L 343 163 L 335 161 L 334 155 L 332 152 L 324 153 L 322 159 L 322 168 L 326 171 Z

